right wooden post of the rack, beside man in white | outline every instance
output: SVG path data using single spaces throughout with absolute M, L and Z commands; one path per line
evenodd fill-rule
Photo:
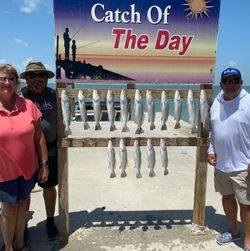
M 212 85 L 201 85 L 201 89 L 211 89 Z M 200 117 L 200 116 L 199 116 Z M 199 121 L 199 129 L 197 137 L 204 139 L 208 138 L 208 128 L 203 128 Z M 194 187 L 194 224 L 199 226 L 205 225 L 205 205 L 206 205 L 206 186 L 207 186 L 207 146 L 197 145 L 196 151 L 196 172 L 195 172 L 195 187 Z

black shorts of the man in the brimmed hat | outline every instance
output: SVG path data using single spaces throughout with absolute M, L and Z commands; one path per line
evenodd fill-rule
M 49 177 L 44 183 L 39 183 L 38 185 L 42 188 L 51 188 L 58 184 L 58 167 L 57 167 L 57 154 L 48 157 L 49 162 Z

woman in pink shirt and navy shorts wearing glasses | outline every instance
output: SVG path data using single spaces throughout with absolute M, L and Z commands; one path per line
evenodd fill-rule
M 41 112 L 16 95 L 17 84 L 16 69 L 0 64 L 0 226 L 6 251 L 29 250 L 24 243 L 28 198 L 37 179 L 48 178 Z

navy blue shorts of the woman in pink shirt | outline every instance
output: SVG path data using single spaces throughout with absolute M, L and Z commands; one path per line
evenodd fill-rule
M 0 182 L 0 201 L 15 205 L 18 201 L 29 197 L 35 184 L 35 174 L 29 180 L 25 180 L 23 176 L 19 176 L 14 180 Z

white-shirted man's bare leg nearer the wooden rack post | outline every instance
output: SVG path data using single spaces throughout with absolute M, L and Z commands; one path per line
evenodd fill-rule
M 238 205 L 233 194 L 222 196 L 222 205 L 227 217 L 229 229 L 233 235 L 238 233 L 237 213 Z

